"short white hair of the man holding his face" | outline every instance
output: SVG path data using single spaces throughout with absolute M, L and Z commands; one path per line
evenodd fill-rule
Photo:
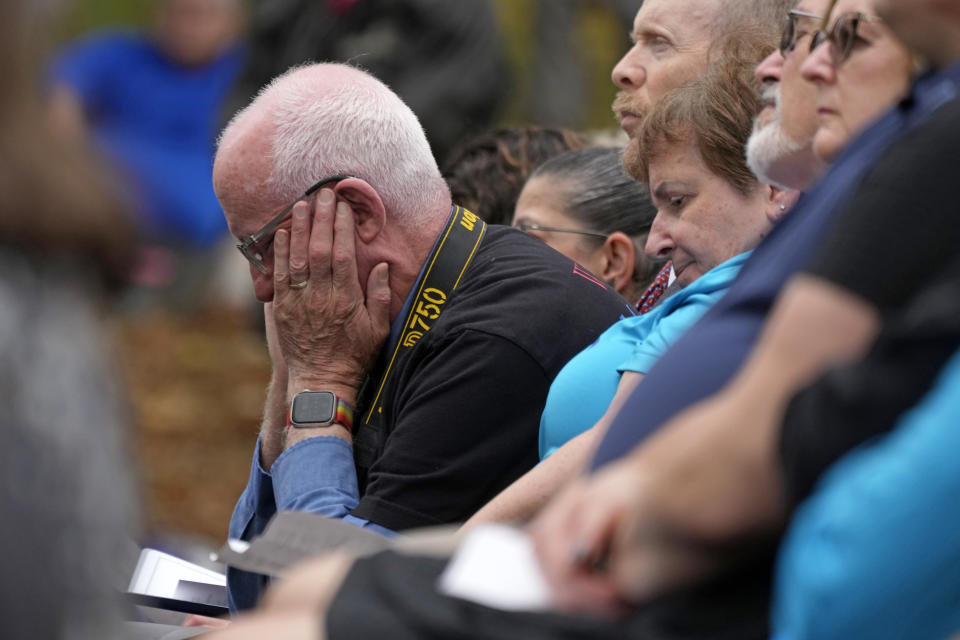
M 294 67 L 234 116 L 221 140 L 261 107 L 273 132 L 265 184 L 271 198 L 292 201 L 322 178 L 350 175 L 368 182 L 403 226 L 449 205 L 449 189 L 416 115 L 368 73 L 340 64 Z

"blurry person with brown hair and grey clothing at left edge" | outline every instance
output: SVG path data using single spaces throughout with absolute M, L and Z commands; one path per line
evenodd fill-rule
M 103 303 L 132 234 L 97 163 L 44 119 L 39 13 L 0 3 L 0 635 L 119 638 L 135 484 Z

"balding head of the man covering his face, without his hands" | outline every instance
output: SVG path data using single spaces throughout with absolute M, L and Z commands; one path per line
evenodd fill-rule
M 230 231 L 248 238 L 308 187 L 338 175 L 352 177 L 337 192 L 359 218 L 374 221 L 358 236 L 361 282 L 387 262 L 402 305 L 450 213 L 450 191 L 416 116 L 377 79 L 336 64 L 278 77 L 221 135 L 213 188 Z M 263 269 L 250 266 L 262 301 L 273 297 L 272 238 L 260 245 Z

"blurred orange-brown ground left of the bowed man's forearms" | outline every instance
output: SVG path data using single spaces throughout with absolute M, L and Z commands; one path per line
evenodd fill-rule
M 250 468 L 270 377 L 259 331 L 236 313 L 120 321 L 148 535 L 219 546 Z

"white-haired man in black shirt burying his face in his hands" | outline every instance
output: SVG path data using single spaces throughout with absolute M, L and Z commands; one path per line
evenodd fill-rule
M 536 463 L 563 364 L 630 313 L 543 243 L 452 205 L 413 112 L 348 66 L 261 91 L 222 135 L 214 188 L 274 369 L 233 538 L 290 509 L 382 533 L 465 519 Z M 232 605 L 263 580 L 231 571 Z

